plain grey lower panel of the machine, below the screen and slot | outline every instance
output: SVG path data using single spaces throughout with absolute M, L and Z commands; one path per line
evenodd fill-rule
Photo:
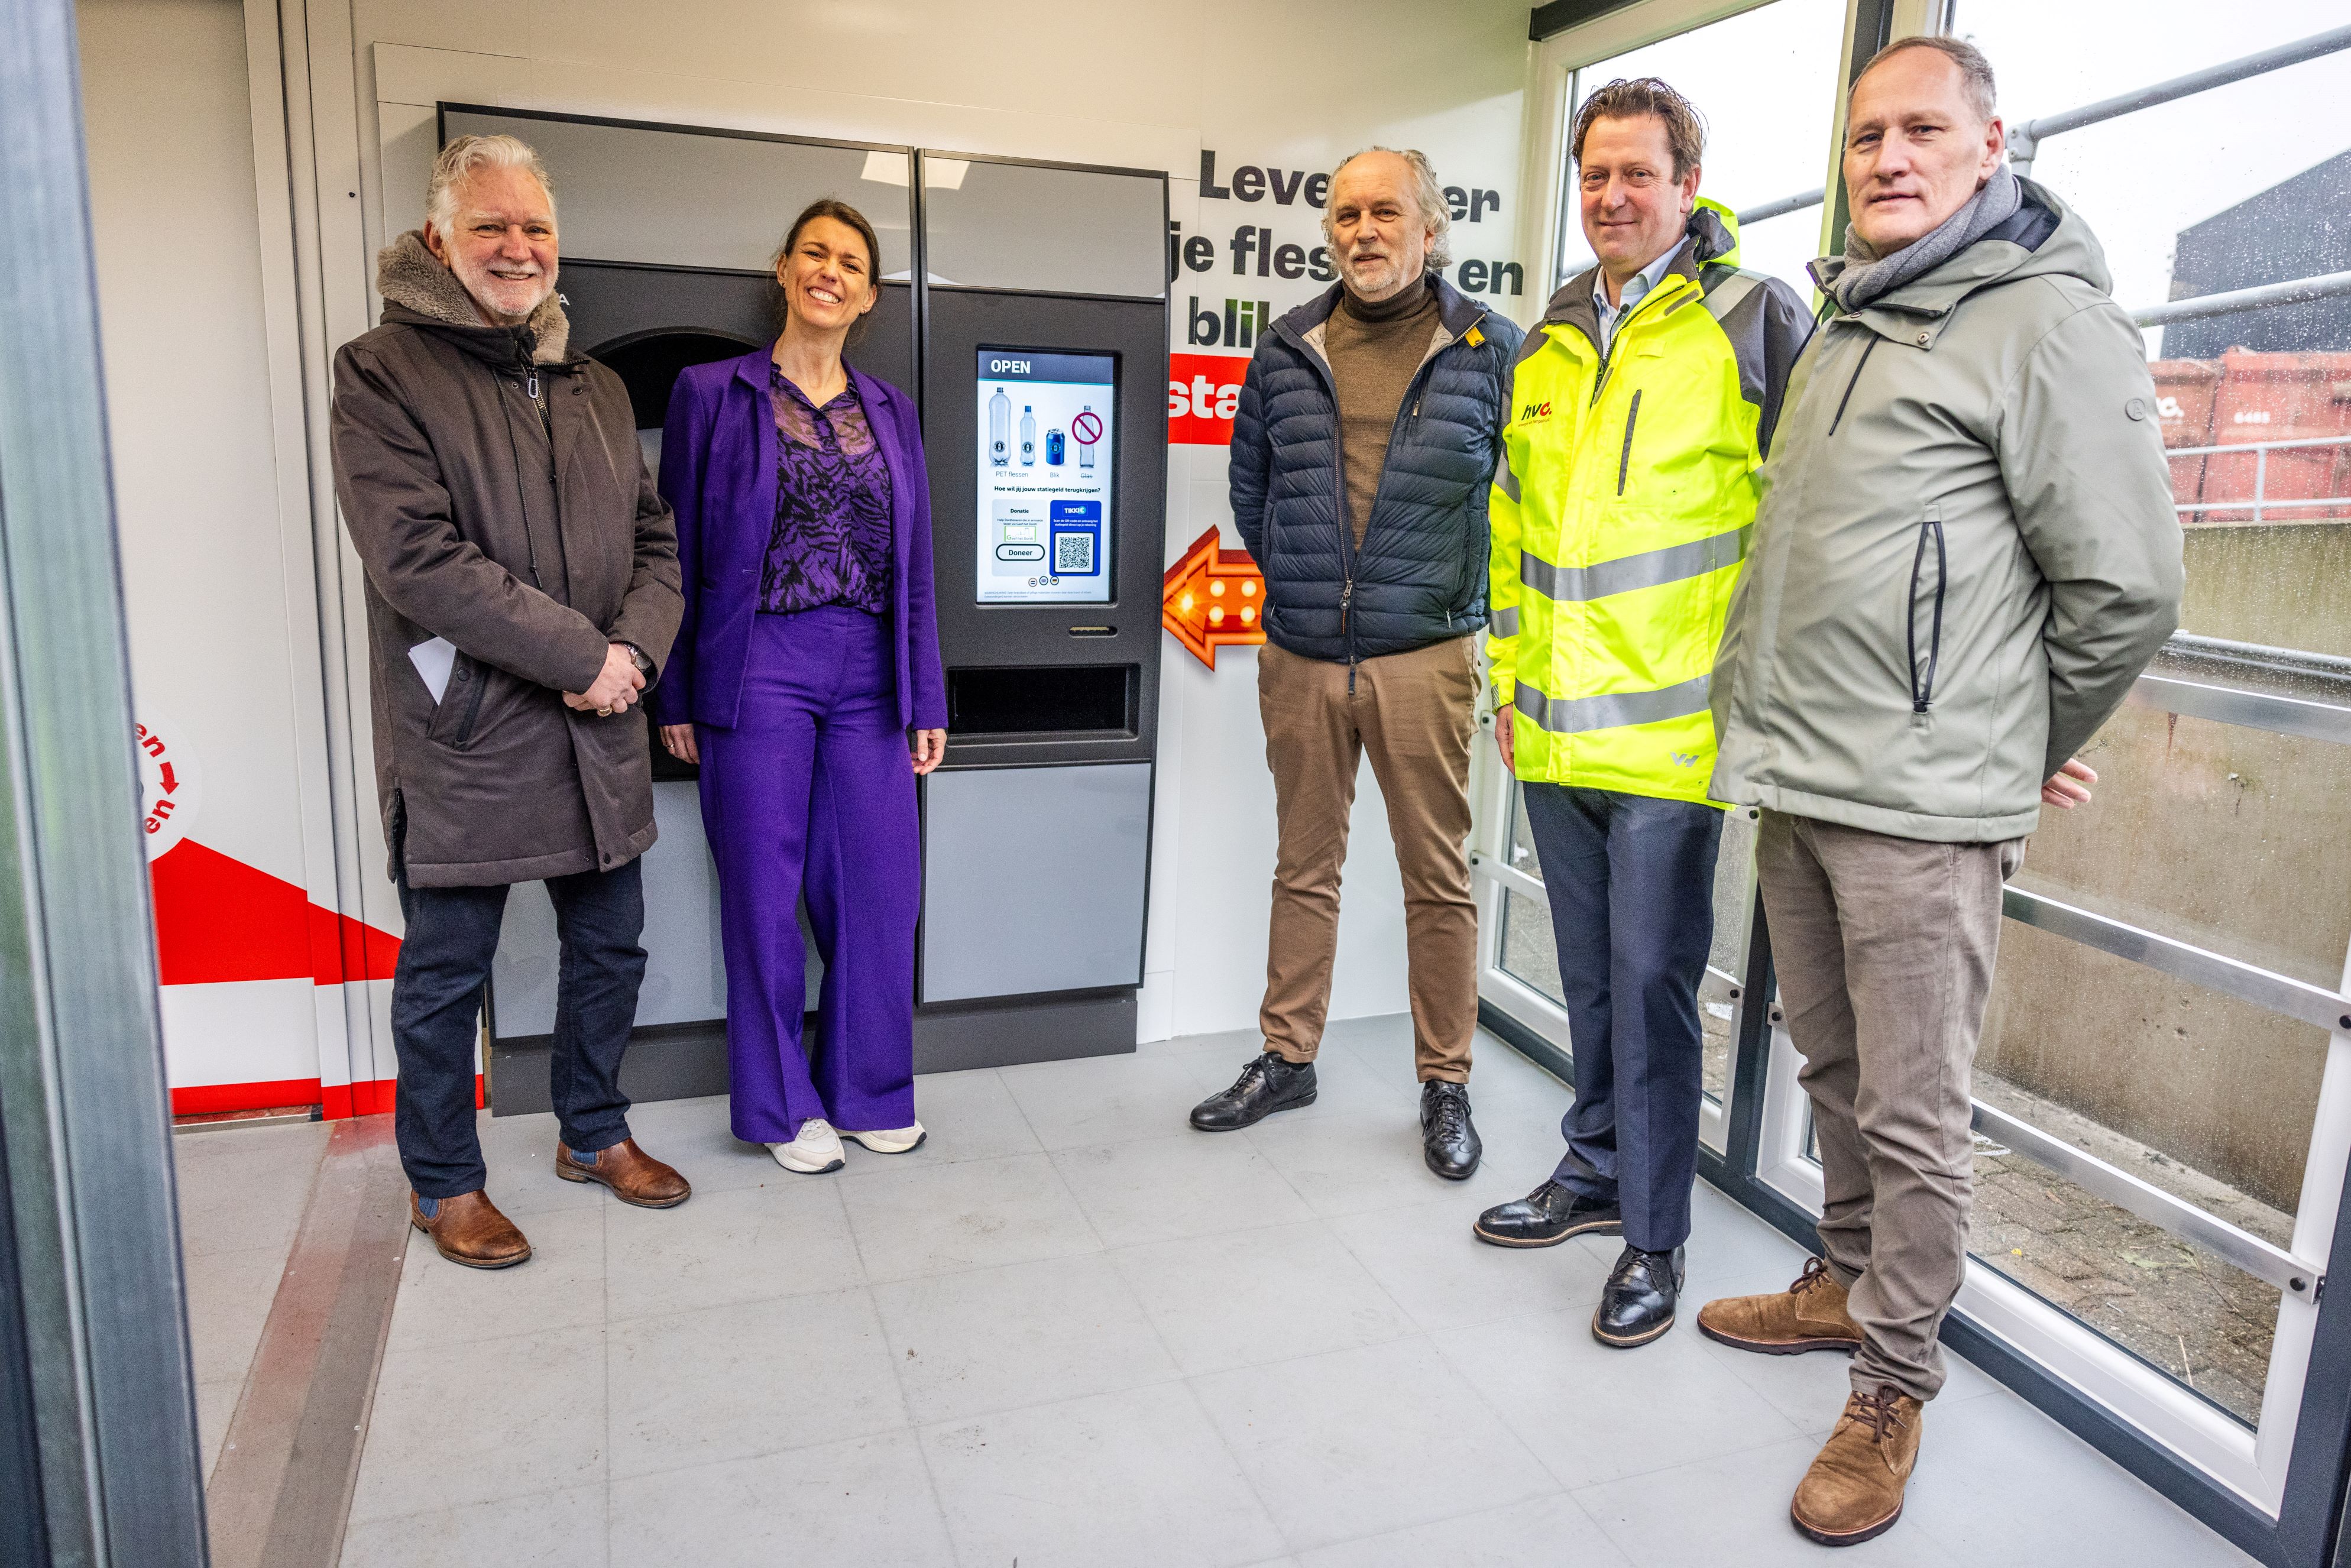
M 924 780 L 919 999 L 1143 983 L 1152 764 Z

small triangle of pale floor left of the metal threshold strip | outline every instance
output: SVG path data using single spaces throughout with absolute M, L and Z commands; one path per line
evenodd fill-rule
M 207 1476 L 261 1347 L 329 1131 L 324 1121 L 296 1121 L 205 1128 L 172 1140 Z

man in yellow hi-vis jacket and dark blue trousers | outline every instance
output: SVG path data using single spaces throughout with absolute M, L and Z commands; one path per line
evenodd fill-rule
M 1585 237 L 1512 367 L 1495 473 L 1495 741 L 1521 780 L 1575 1048 L 1568 1152 L 1495 1246 L 1622 1234 L 1592 1333 L 1674 1326 L 1697 1173 L 1697 983 L 1723 811 L 1707 677 L 1810 315 L 1697 197 L 1704 129 L 1655 78 L 1575 115 Z

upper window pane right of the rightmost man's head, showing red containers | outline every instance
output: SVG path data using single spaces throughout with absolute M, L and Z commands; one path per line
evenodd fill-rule
M 2020 125 L 2342 16 L 2337 0 L 1961 0 L 1956 26 Z M 2052 136 L 2031 176 L 2088 221 L 2125 310 L 2351 270 L 2351 223 L 2330 219 L 2351 202 L 2346 96 L 2351 52 L 2325 54 Z M 2351 576 L 2351 296 L 2149 327 L 2146 357 L 2179 454 L 2182 630 L 2351 656 L 2335 592 Z

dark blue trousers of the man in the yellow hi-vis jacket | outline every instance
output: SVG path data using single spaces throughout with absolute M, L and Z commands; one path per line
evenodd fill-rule
M 1697 983 L 1714 945 L 1723 813 L 1679 799 L 1521 783 L 1559 940 L 1575 1053 L 1568 1154 L 1552 1180 L 1625 1211 L 1625 1241 L 1665 1253 L 1690 1237 Z

